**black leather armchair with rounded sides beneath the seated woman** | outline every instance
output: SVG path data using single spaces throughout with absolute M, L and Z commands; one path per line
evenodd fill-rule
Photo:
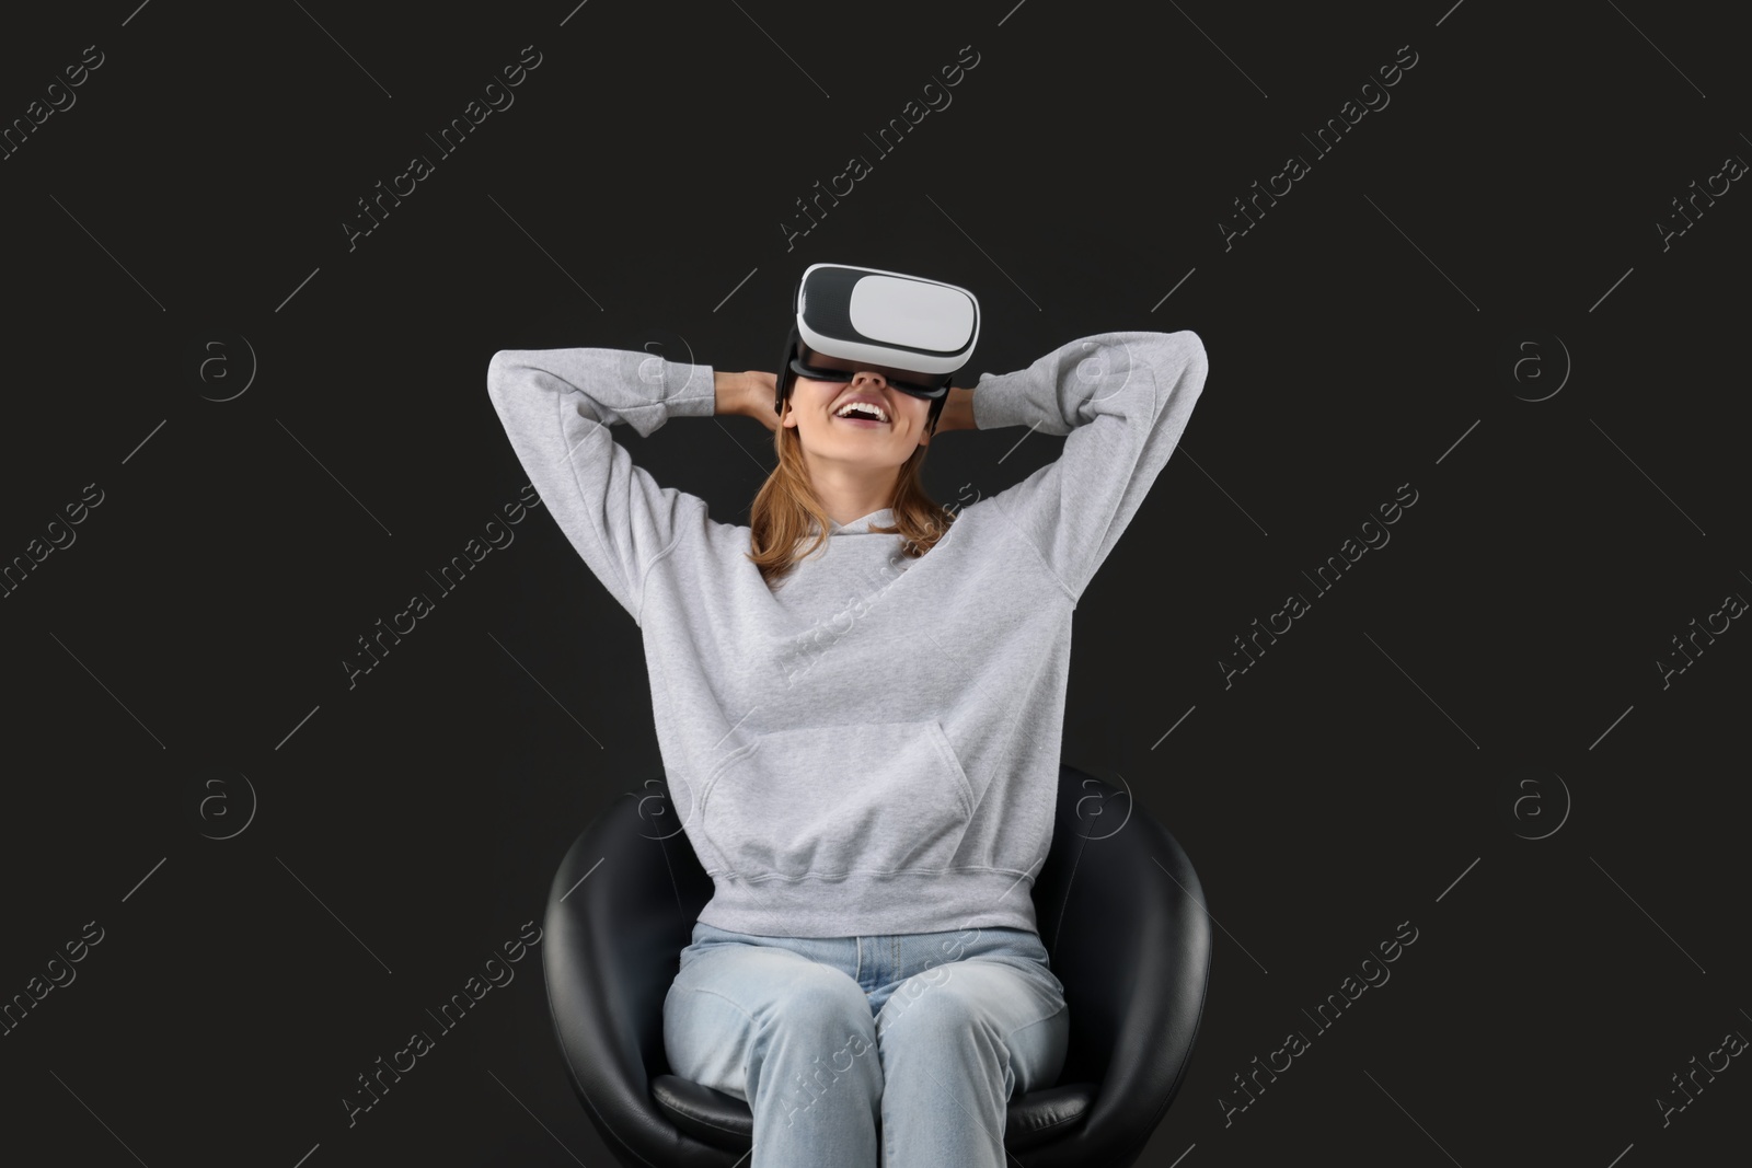
M 1065 986 L 1058 1084 L 1009 1103 L 1025 1168 L 1137 1161 L 1191 1056 L 1211 968 L 1209 914 L 1167 828 L 1114 786 L 1062 765 L 1035 919 Z M 617 799 L 554 876 L 541 965 L 573 1089 L 608 1150 L 646 1168 L 732 1168 L 748 1103 L 669 1073 L 662 1003 L 711 898 L 662 779 Z

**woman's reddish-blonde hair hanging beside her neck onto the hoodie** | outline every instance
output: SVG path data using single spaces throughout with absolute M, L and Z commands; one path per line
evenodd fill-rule
M 799 560 L 827 543 L 829 524 L 827 510 L 809 485 L 799 431 L 792 426 L 776 427 L 773 448 L 778 452 L 778 466 L 755 496 L 748 520 L 752 529 L 748 559 L 755 562 L 769 587 L 783 581 Z M 894 501 L 888 504 L 894 525 L 871 527 L 872 532 L 904 536 L 901 552 L 911 559 L 930 552 L 955 522 L 951 511 L 925 494 L 922 478 L 925 450 L 929 447 L 916 447 L 895 469 Z M 802 548 L 801 543 L 809 538 L 811 520 L 816 525 L 815 543 Z

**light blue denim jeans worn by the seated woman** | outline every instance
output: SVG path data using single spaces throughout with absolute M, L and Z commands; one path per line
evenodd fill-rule
M 748 1103 L 752 1168 L 1002 1168 L 1007 1101 L 1055 1086 L 1070 1016 L 1021 928 L 755 937 L 694 925 L 669 1070 Z

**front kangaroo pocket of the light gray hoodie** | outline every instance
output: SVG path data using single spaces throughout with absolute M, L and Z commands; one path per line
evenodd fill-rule
M 972 788 L 934 718 L 762 734 L 699 800 L 727 874 L 745 879 L 948 869 L 971 818 Z

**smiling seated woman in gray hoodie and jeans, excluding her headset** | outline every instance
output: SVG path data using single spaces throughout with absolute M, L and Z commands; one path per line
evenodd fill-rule
M 671 1070 L 750 1103 L 753 1168 L 999 1168 L 1007 1101 L 1053 1086 L 1070 1030 L 1030 897 L 1070 615 L 1207 362 L 1191 331 L 1102 333 L 950 389 L 941 415 L 892 371 L 848 371 L 799 376 L 781 415 L 773 373 L 631 350 L 503 350 L 487 382 L 643 632 L 671 799 L 713 879 L 664 1003 Z M 851 399 L 874 417 L 843 417 Z M 748 525 L 610 434 L 724 413 L 778 454 Z M 934 433 L 1004 426 L 1067 440 L 1007 490 L 934 504 Z

